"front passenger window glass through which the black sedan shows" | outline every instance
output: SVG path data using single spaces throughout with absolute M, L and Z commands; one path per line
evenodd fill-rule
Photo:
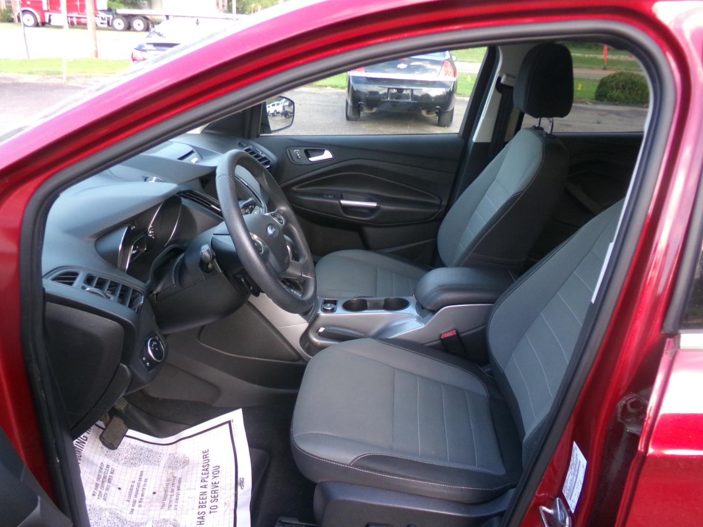
M 295 120 L 278 134 L 456 134 L 485 54 L 486 48 L 423 53 L 287 91 Z

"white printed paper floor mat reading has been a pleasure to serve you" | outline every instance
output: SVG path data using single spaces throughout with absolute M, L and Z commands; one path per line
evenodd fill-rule
M 249 527 L 252 465 L 242 410 L 167 438 L 128 431 L 117 450 L 102 424 L 74 442 L 93 527 Z

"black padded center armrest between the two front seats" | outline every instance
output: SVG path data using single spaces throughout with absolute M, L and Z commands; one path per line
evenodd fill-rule
M 494 304 L 515 282 L 504 269 L 441 267 L 427 273 L 415 285 L 415 300 L 430 311 L 460 304 Z

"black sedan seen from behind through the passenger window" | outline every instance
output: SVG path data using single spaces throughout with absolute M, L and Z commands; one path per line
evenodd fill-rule
M 347 121 L 380 108 L 437 115 L 439 126 L 449 126 L 455 100 L 456 66 L 449 51 L 389 60 L 347 74 Z

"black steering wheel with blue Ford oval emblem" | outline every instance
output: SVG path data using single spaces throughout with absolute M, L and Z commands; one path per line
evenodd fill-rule
M 273 212 L 242 214 L 234 175 L 237 167 L 257 179 L 275 207 Z M 315 264 L 303 230 L 276 180 L 247 152 L 230 150 L 217 164 L 215 183 L 224 222 L 250 278 L 285 311 L 310 311 L 317 301 Z

